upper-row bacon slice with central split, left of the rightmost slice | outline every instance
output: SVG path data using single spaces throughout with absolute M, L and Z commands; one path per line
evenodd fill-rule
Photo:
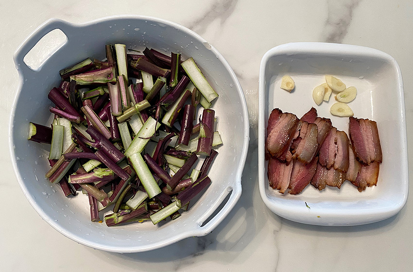
M 319 151 L 319 162 L 330 169 L 345 173 L 349 165 L 349 140 L 344 131 L 332 127 Z

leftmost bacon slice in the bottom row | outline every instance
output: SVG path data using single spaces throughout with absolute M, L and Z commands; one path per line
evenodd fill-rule
M 292 163 L 286 165 L 278 159 L 271 158 L 268 162 L 268 180 L 270 181 L 270 186 L 283 194 L 290 184 L 292 170 Z

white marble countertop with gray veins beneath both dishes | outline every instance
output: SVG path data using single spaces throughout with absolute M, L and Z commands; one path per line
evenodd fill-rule
M 0 10 L 1 271 L 409 271 L 413 266 L 412 198 L 385 221 L 318 227 L 273 214 L 262 203 L 257 183 L 259 62 L 267 50 L 287 42 L 348 43 L 395 57 L 404 76 L 408 145 L 413 146 L 412 1 L 17 0 L 2 1 Z M 53 230 L 26 201 L 6 148 L 18 82 L 12 59 L 17 46 L 52 17 L 80 23 L 117 14 L 161 17 L 203 36 L 236 72 L 250 111 L 250 151 L 236 207 L 205 237 L 140 254 L 93 250 Z

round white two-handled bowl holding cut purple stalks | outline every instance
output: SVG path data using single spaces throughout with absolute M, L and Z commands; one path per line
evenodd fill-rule
M 23 62 L 26 53 L 47 33 L 60 29 L 67 42 L 52 52 L 38 68 Z M 48 146 L 27 140 L 28 122 L 50 122 L 47 94 L 59 84 L 59 70 L 86 57 L 103 59 L 104 45 L 124 43 L 143 50 L 181 52 L 192 56 L 220 97 L 213 108 L 219 117 L 218 130 L 224 145 L 217 151 L 209 176 L 212 184 L 188 212 L 175 221 L 154 226 L 151 222 L 107 227 L 90 221 L 87 198 L 65 198 L 59 185 L 44 178 L 49 169 Z M 134 47 L 135 46 L 135 47 Z M 163 19 L 144 16 L 108 17 L 74 25 L 51 19 L 38 27 L 17 49 L 14 60 L 20 84 L 10 119 L 10 153 L 17 181 L 30 204 L 53 228 L 68 238 L 92 248 L 132 253 L 160 248 L 191 236 L 210 233 L 241 196 L 241 174 L 249 140 L 245 98 L 233 70 L 206 40 L 189 29 Z M 225 167 L 220 167 L 225 166 Z M 222 209 L 206 222 L 225 197 Z

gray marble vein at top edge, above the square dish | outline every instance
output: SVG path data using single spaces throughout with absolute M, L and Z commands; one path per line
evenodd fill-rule
M 323 40 L 342 43 L 350 27 L 353 11 L 361 0 L 327 0 L 328 15 Z

